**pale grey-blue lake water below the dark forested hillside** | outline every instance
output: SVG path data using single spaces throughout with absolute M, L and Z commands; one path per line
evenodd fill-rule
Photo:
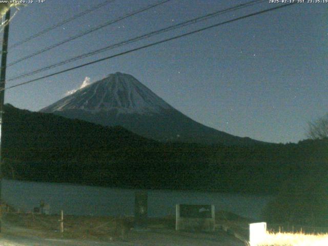
M 41 200 L 50 204 L 50 213 L 72 215 L 134 214 L 134 195 L 138 190 L 69 185 L 63 183 L 26 182 L 3 179 L 2 197 L 22 211 L 32 211 Z M 175 214 L 175 204 L 214 204 L 215 210 L 260 219 L 272 196 L 207 193 L 191 191 L 147 190 L 150 217 Z

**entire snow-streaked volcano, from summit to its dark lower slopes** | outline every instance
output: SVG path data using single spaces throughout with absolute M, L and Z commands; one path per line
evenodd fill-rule
M 254 145 L 248 137 L 204 126 L 170 106 L 136 78 L 115 73 L 40 110 L 104 126 L 122 126 L 158 141 Z

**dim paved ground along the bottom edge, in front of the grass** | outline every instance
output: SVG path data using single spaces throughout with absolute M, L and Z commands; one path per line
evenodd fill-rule
M 19 228 L 20 230 L 26 230 Z M 131 230 L 124 241 L 100 242 L 77 239 L 43 238 L 29 235 L 15 235 L 18 228 L 3 230 L 0 246 L 243 246 L 244 244 L 232 235 L 223 231 L 212 233 L 176 232 L 168 229 L 144 231 Z

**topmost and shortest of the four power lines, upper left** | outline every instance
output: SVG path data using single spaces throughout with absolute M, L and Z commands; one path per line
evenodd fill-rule
M 17 43 L 15 43 L 15 44 L 9 46 L 9 49 L 12 49 L 12 48 L 15 48 L 15 47 L 17 47 L 17 46 L 23 45 L 24 43 L 28 42 L 28 41 L 31 40 L 31 39 L 34 39 L 34 38 L 36 38 L 36 37 L 38 37 L 38 36 L 40 36 L 40 35 L 43 35 L 43 34 L 49 32 L 49 31 L 51 31 L 51 30 L 53 30 L 53 29 L 55 29 L 55 28 L 57 28 L 57 27 L 63 26 L 63 25 L 65 25 L 66 23 L 69 23 L 69 22 L 71 22 L 71 21 L 74 20 L 74 19 L 77 19 L 77 18 L 79 18 L 79 17 L 81 17 L 81 16 L 83 16 L 83 15 L 89 14 L 90 12 L 92 12 L 92 11 L 94 11 L 94 10 L 96 10 L 96 9 L 99 9 L 99 8 L 101 8 L 101 7 L 104 7 L 104 6 L 106 6 L 107 4 L 110 4 L 110 3 L 114 2 L 114 1 L 116 1 L 116 0 L 107 0 L 107 1 L 105 1 L 104 3 L 98 4 L 98 5 L 96 5 L 96 6 L 92 7 L 92 8 L 90 8 L 90 9 L 87 9 L 86 11 L 83 11 L 83 12 L 81 12 L 81 13 L 79 13 L 79 14 L 76 14 L 76 15 L 74 15 L 74 16 L 68 18 L 68 19 L 65 19 L 65 20 L 63 20 L 62 22 L 59 22 L 59 23 L 57 23 L 57 24 L 55 24 L 55 25 L 53 25 L 53 26 L 51 26 L 51 27 L 48 27 L 48 28 L 46 28 L 46 29 L 44 29 L 44 30 L 42 30 L 42 31 L 40 31 L 40 32 L 38 32 L 38 33 L 35 33 L 35 34 L 33 34 L 33 35 L 31 35 L 31 36 L 25 38 L 24 40 L 22 40 L 22 41 L 20 41 L 20 42 L 17 42 Z

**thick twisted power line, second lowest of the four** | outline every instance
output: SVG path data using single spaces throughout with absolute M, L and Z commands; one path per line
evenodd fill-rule
M 169 26 L 169 27 L 166 27 L 166 28 L 162 28 L 162 29 L 159 29 L 157 31 L 153 31 L 153 32 L 150 32 L 150 33 L 147 33 L 147 34 L 144 34 L 144 35 L 140 35 L 140 36 L 137 36 L 137 37 L 134 37 L 134 38 L 131 38 L 131 39 L 128 39 L 128 40 L 125 40 L 125 41 L 122 41 L 122 42 L 119 42 L 119 43 L 116 43 L 116 44 L 113 44 L 113 45 L 110 45 L 110 46 L 107 46 L 107 47 L 104 47 L 104 48 L 101 48 L 101 49 L 94 50 L 92 52 L 88 52 L 88 53 L 85 53 L 85 54 L 82 54 L 82 55 L 78 55 L 78 56 L 72 57 L 70 59 L 60 61 L 59 63 L 49 65 L 49 66 L 44 67 L 44 68 L 36 69 L 34 71 L 24 73 L 24 74 L 19 74 L 15 77 L 12 77 L 12 78 L 8 79 L 7 81 L 17 80 L 19 78 L 24 78 L 24 77 L 31 76 L 31 75 L 36 74 L 36 73 L 44 72 L 44 71 L 47 71 L 47 70 L 52 69 L 52 68 L 56 68 L 56 67 L 61 66 L 61 65 L 71 63 L 72 61 L 76 61 L 76 60 L 79 60 L 79 59 L 82 59 L 82 58 L 86 58 L 86 57 L 89 57 L 89 56 L 92 56 L 92 55 L 95 55 L 95 54 L 98 54 L 98 53 L 101 53 L 101 52 L 105 52 L 105 51 L 108 51 L 108 50 L 111 50 L 111 49 L 114 49 L 114 48 L 117 48 L 117 47 L 120 47 L 120 46 L 128 45 L 128 44 L 137 42 L 137 41 L 142 40 L 142 39 L 149 38 L 151 36 L 154 36 L 154 35 L 157 35 L 157 34 L 160 34 L 160 33 L 168 32 L 168 31 L 171 31 L 171 30 L 174 30 L 174 29 L 177 29 L 177 28 L 181 28 L 181 27 L 186 27 L 188 25 L 192 25 L 192 24 L 201 22 L 203 20 L 207 20 L 209 18 L 216 17 L 216 16 L 218 16 L 220 14 L 223 14 L 223 13 L 236 11 L 238 9 L 253 6 L 255 4 L 260 4 L 262 2 L 267 2 L 267 0 L 254 0 L 254 1 L 250 1 L 248 3 L 236 5 L 236 6 L 227 8 L 227 9 L 215 11 L 215 12 L 210 13 L 210 14 L 206 14 L 206 15 L 203 15 L 203 16 L 200 16 L 200 17 L 197 17 L 197 18 L 187 20 L 186 22 L 182 22 L 182 23 L 172 25 L 172 26 Z

